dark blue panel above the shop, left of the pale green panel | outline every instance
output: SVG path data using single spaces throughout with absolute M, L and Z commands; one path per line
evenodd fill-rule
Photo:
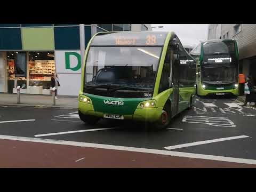
M 20 28 L 0 28 L 0 50 L 21 50 Z

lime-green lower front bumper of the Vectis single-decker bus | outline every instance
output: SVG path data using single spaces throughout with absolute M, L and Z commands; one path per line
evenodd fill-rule
M 103 118 L 104 113 L 94 111 L 93 105 L 78 101 L 78 110 L 84 115 L 92 115 Z M 160 119 L 163 107 L 137 108 L 133 115 L 123 115 L 124 119 L 154 122 Z M 119 115 L 119 114 L 116 114 Z

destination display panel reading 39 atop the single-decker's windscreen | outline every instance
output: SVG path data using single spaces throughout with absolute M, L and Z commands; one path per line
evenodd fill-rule
M 142 45 L 163 46 L 168 31 L 113 31 L 100 32 L 91 45 Z

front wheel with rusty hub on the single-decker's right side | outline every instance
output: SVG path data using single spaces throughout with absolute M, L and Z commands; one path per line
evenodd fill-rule
M 171 106 L 165 105 L 160 119 L 154 123 L 154 129 L 162 130 L 166 129 L 171 121 Z

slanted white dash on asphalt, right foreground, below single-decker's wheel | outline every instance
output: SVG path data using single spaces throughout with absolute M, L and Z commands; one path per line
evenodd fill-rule
M 233 139 L 241 139 L 241 138 L 247 138 L 247 137 L 249 137 L 249 136 L 240 135 L 240 136 L 236 136 L 236 137 L 227 137 L 227 138 L 211 139 L 211 140 L 206 140 L 206 141 L 185 143 L 185 144 L 181 144 L 181 145 L 169 146 L 169 147 L 164 147 L 164 148 L 168 149 L 168 150 L 172 150 L 172 149 L 178 149 L 178 148 L 183 148 L 183 147 L 191 147 L 191 146 L 203 145 L 203 144 L 207 144 L 207 143 L 227 141 L 227 140 L 233 140 Z

